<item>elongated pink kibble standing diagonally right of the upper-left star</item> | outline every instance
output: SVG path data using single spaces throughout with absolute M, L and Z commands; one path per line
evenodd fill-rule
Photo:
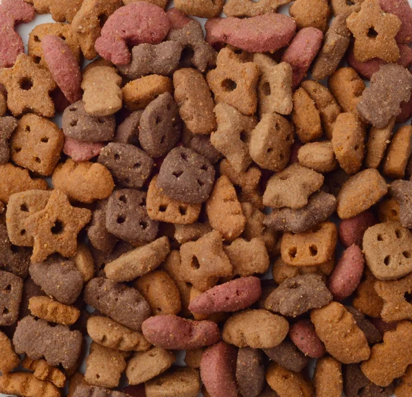
M 58 36 L 45 36 L 41 41 L 50 73 L 70 103 L 82 98 L 82 72 L 69 45 Z

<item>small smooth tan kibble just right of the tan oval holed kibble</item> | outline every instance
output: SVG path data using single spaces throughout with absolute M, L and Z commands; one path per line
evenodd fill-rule
M 302 166 L 317 172 L 331 172 L 338 166 L 331 141 L 305 144 L 299 149 L 297 158 Z

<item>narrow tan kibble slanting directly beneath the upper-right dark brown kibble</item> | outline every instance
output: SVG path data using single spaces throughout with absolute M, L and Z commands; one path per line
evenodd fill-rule
M 395 117 L 391 117 L 387 126 L 383 128 L 371 127 L 366 144 L 365 166 L 368 168 L 378 168 L 380 162 L 385 156 L 385 150 L 390 142 L 393 127 L 395 126 Z

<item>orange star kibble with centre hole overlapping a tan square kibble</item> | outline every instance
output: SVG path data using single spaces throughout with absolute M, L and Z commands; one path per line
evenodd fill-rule
M 34 236 L 32 262 L 55 252 L 66 258 L 75 255 L 77 235 L 90 219 L 89 209 L 72 207 L 64 193 L 53 190 L 45 209 L 25 220 L 27 233 Z

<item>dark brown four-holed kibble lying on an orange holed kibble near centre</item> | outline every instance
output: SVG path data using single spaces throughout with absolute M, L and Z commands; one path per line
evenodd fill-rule
M 167 196 L 185 203 L 203 203 L 214 183 L 214 168 L 189 148 L 174 148 L 163 160 L 157 183 Z

